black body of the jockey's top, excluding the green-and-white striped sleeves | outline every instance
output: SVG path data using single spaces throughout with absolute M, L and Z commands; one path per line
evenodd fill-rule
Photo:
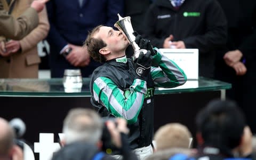
M 93 82 L 98 77 L 110 78 L 119 89 L 125 91 L 133 84 L 134 79 L 137 77 L 133 63 L 131 59 L 127 59 L 127 63 L 116 62 L 115 59 L 105 62 L 102 66 L 98 67 L 93 71 L 91 78 L 90 90 L 92 91 Z M 154 82 L 149 76 L 147 80 L 147 88 L 153 89 L 154 95 Z M 150 103 L 147 100 L 150 99 Z M 91 102 L 94 107 L 98 109 L 99 114 L 102 117 L 111 116 L 106 107 L 97 103 L 93 97 Z M 153 122 L 154 122 L 154 96 L 150 96 L 144 99 L 142 109 L 138 116 L 138 121 L 134 124 L 128 124 L 130 133 L 128 136 L 128 141 L 130 143 L 130 148 L 140 148 L 149 146 L 153 140 Z

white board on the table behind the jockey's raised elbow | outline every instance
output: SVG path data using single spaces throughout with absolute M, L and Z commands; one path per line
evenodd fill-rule
M 198 79 L 198 49 L 159 49 L 184 70 L 187 79 Z

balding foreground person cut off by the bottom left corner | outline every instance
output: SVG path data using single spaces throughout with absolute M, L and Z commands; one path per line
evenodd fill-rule
M 14 138 L 13 129 L 0 117 L 0 160 L 23 160 L 22 149 L 14 145 Z

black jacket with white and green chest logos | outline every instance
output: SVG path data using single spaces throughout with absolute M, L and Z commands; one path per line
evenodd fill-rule
M 157 0 L 145 17 L 144 33 L 151 43 L 163 47 L 164 39 L 183 41 L 187 49 L 199 49 L 199 76 L 212 77 L 215 51 L 225 45 L 227 22 L 215 0 L 186 0 L 175 9 L 169 0 Z

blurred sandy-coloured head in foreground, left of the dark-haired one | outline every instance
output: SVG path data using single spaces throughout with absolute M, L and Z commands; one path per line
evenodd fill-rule
M 189 148 L 191 133 L 185 125 L 169 123 L 161 126 L 155 133 L 157 150 L 169 148 Z

